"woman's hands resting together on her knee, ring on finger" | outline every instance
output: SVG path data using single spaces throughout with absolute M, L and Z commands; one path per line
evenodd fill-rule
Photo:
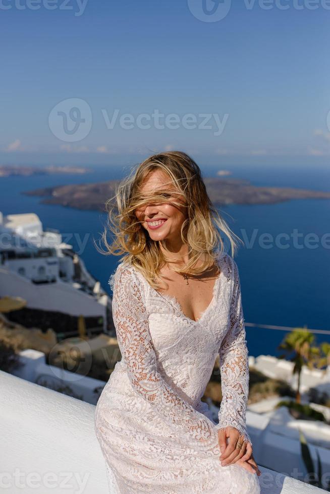
M 229 438 L 229 444 L 227 444 Z M 218 430 L 219 446 L 221 451 L 220 463 L 222 466 L 231 465 L 238 462 L 251 473 L 261 474 L 257 464 L 252 456 L 252 446 L 244 441 L 239 430 L 235 427 L 228 426 Z M 240 448 L 236 446 L 240 446 Z

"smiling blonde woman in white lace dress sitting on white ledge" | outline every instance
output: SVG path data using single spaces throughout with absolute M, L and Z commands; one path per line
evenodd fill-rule
M 111 492 L 258 494 L 240 280 L 220 231 L 232 254 L 236 235 L 181 152 L 141 163 L 121 183 L 109 219 L 107 253 L 126 253 L 109 279 L 122 360 L 95 411 Z M 217 354 L 223 398 L 215 424 L 201 398 Z

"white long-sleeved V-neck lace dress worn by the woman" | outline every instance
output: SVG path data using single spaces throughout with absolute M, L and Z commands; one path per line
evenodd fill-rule
M 217 254 L 221 273 L 198 321 L 153 289 L 132 265 L 109 279 L 122 360 L 95 409 L 95 433 L 114 494 L 259 494 L 256 473 L 222 466 L 217 430 L 246 430 L 248 350 L 236 262 Z M 201 401 L 219 353 L 219 423 Z M 251 443 L 252 444 L 252 443 Z

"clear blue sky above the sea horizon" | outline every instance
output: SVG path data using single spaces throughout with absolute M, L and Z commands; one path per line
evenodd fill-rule
M 2 164 L 329 165 L 329 0 L 0 4 Z

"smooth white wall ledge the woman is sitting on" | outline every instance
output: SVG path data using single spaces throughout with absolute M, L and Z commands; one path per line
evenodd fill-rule
M 0 490 L 10 494 L 107 494 L 94 432 L 95 406 L 0 370 Z M 326 492 L 260 467 L 262 494 Z

